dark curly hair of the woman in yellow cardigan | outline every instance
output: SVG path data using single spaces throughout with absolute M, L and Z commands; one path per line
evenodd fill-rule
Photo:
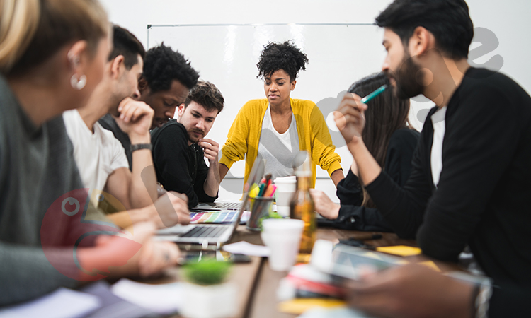
M 260 54 L 260 61 L 256 64 L 258 75 L 256 78 L 265 79 L 279 69 L 290 76 L 290 81 L 295 81 L 300 69 L 306 70 L 308 58 L 306 54 L 292 44 L 291 40 L 284 43 L 268 42 Z

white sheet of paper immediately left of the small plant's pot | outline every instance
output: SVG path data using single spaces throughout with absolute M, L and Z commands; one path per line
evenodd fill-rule
M 181 308 L 183 284 L 145 284 L 122 278 L 110 287 L 113 294 L 159 314 L 171 314 Z

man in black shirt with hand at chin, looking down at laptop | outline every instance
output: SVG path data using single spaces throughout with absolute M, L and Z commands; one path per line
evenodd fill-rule
M 178 119 L 152 131 L 156 178 L 164 189 L 186 194 L 190 208 L 217 198 L 219 144 L 205 136 L 223 104 L 223 95 L 214 84 L 198 81 L 178 107 Z

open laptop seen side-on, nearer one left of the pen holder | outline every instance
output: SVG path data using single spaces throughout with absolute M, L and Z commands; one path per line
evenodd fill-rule
M 265 160 L 258 155 L 254 160 L 251 173 L 244 184 L 245 189 L 249 189 L 251 184 L 260 183 L 265 170 Z M 241 204 L 236 218 L 230 224 L 190 224 L 176 225 L 171 228 L 159 230 L 155 240 L 176 242 L 181 249 L 220 249 L 222 245 L 229 242 L 234 231 L 238 227 L 241 215 L 246 211 L 249 205 L 249 191 L 244 194 L 244 201 Z

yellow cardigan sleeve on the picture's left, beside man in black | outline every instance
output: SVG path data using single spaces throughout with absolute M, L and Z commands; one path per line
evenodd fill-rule
M 229 169 L 236 161 L 243 160 L 248 152 L 251 102 L 246 102 L 239 110 L 222 148 L 222 158 L 219 159 L 219 163 L 226 165 Z

